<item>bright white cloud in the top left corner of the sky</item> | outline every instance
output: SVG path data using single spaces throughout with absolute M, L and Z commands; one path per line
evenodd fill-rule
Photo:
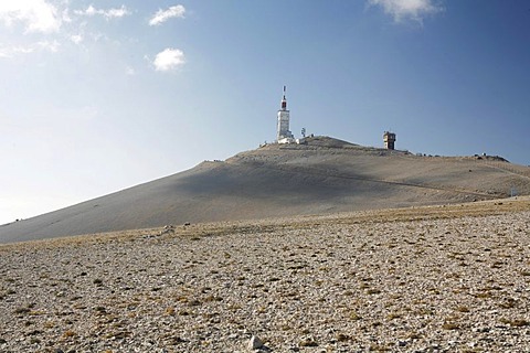
M 7 26 L 23 23 L 26 33 L 51 33 L 57 32 L 61 28 L 57 9 L 46 0 L 2 0 L 0 20 Z

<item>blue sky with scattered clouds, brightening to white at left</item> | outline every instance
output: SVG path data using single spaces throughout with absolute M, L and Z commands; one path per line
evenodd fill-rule
M 276 133 L 530 164 L 527 0 L 0 2 L 0 224 Z

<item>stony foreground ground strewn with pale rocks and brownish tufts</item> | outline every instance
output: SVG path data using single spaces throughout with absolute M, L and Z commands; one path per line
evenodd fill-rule
M 505 200 L 0 246 L 0 352 L 529 352 L 529 220 Z

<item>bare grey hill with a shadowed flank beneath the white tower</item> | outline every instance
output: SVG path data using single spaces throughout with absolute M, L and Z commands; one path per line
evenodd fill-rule
M 492 157 L 425 157 L 315 137 L 268 145 L 30 220 L 0 243 L 530 194 L 530 168 Z

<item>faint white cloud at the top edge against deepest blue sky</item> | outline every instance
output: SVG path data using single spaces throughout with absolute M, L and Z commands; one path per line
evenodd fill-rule
M 443 11 L 443 8 L 434 4 L 433 0 L 368 0 L 368 3 L 383 8 L 395 22 L 402 22 L 404 19 L 422 22 L 424 15 Z

